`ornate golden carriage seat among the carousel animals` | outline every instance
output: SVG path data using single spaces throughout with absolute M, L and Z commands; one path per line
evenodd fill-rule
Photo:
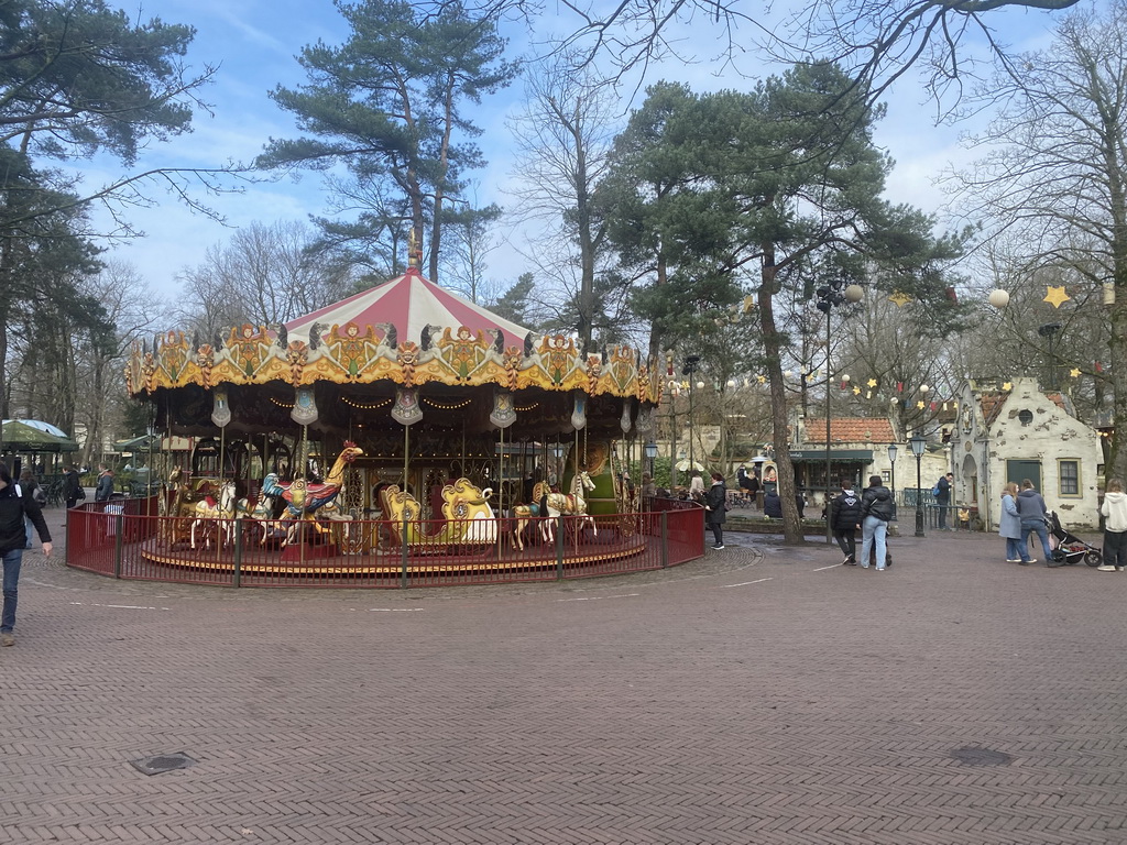
M 380 491 L 384 518 L 396 545 L 406 540 L 408 545 L 490 545 L 497 542 L 497 519 L 494 518 L 489 499 L 492 490 L 483 490 L 464 478 L 442 489 L 442 514 L 446 523 L 435 534 L 423 531 L 423 506 L 397 484 L 389 484 Z

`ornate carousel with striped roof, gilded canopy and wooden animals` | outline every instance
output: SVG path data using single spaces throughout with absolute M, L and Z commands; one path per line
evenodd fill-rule
M 130 393 L 166 443 L 193 444 L 157 497 L 147 560 L 379 573 L 645 551 L 631 468 L 660 400 L 654 364 L 538 336 L 424 278 L 418 258 L 285 324 L 134 346 Z

